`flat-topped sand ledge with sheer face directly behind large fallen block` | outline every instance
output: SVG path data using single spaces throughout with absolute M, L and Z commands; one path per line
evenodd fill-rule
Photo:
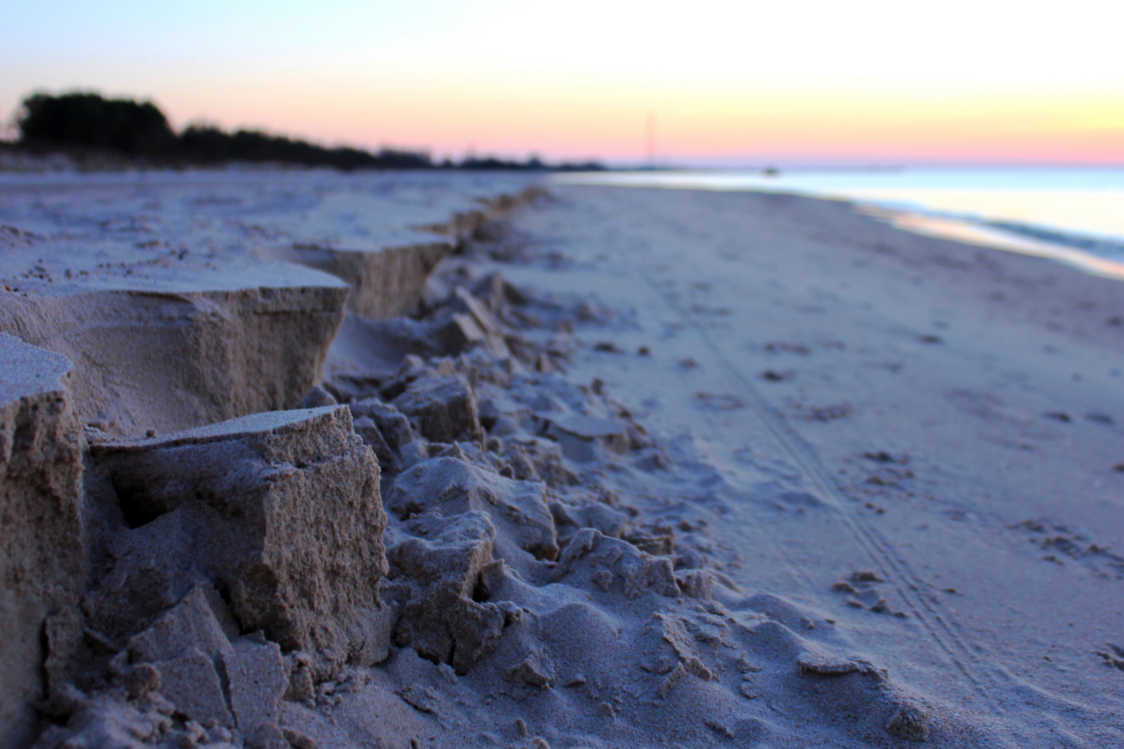
M 319 378 L 346 296 L 330 275 L 262 261 L 28 281 L 0 291 L 0 331 L 74 363 L 83 422 L 138 437 L 293 408 Z

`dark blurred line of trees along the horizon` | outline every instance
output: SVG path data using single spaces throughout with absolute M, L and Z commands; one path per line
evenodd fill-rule
M 106 99 L 98 93 L 34 93 L 22 101 L 16 118 L 17 147 L 30 152 L 102 152 L 158 165 L 217 166 L 229 162 L 328 166 L 338 170 L 461 168 L 604 170 L 596 163 L 550 165 L 496 157 L 434 162 L 429 154 L 381 148 L 377 152 L 339 146 L 328 148 L 307 140 L 260 130 L 227 133 L 209 125 L 190 125 L 176 134 L 151 101 Z

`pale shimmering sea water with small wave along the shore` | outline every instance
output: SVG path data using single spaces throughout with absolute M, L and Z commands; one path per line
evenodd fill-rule
M 1124 278 L 1124 168 L 643 171 L 564 174 L 555 181 L 846 200 L 909 231 Z

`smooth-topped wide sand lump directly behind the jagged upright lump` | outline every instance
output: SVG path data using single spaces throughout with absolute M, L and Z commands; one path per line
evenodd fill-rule
M 537 559 L 558 558 L 558 532 L 541 482 L 514 481 L 453 457 L 430 458 L 398 476 L 387 506 L 399 517 L 483 511 L 500 530 L 501 545 L 510 539 Z

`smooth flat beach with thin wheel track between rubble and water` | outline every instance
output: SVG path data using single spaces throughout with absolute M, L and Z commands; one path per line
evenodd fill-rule
M 631 354 L 573 372 L 718 471 L 727 574 L 1015 746 L 1120 740 L 1118 283 L 840 202 L 555 193 L 516 226 L 572 266 L 535 281 Z

